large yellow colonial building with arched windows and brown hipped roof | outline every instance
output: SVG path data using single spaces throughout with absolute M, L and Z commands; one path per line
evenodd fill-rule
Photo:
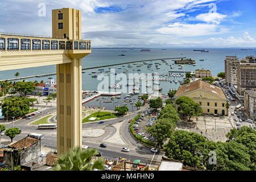
M 187 96 L 199 103 L 204 114 L 228 114 L 228 109 L 226 109 L 227 98 L 218 86 L 197 80 L 179 87 L 175 98 L 182 96 Z

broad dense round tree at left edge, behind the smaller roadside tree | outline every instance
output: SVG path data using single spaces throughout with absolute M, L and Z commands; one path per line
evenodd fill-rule
M 30 101 L 26 97 L 10 97 L 5 99 L 2 104 L 2 115 L 7 117 L 7 109 L 8 109 L 8 117 L 20 117 L 22 115 L 28 114 L 30 110 Z

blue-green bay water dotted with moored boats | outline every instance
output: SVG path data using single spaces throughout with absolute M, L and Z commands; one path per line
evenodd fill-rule
M 174 65 L 174 69 L 170 69 L 170 65 L 174 64 L 174 61 L 167 60 L 169 65 L 162 63 L 162 61 L 147 61 L 148 63 L 152 63 L 152 69 L 147 69 L 147 65 L 142 65 L 142 67 L 137 68 L 137 65 L 133 65 L 133 68 L 127 68 L 127 64 L 125 67 L 122 65 L 117 65 L 112 67 L 115 69 L 115 73 L 122 73 L 123 68 L 128 69 L 129 73 L 152 73 L 158 72 L 159 74 L 168 73 L 168 71 L 193 71 L 195 69 L 209 69 L 212 72 L 213 76 L 216 76 L 219 72 L 224 72 L 224 60 L 225 56 L 234 56 L 236 55 L 239 59 L 244 58 L 248 55 L 255 56 L 255 49 L 242 51 L 240 48 L 221 48 L 221 49 L 205 49 L 209 52 L 200 52 L 200 51 L 193 51 L 193 48 L 167 48 L 166 50 L 162 50 L 160 48 L 151 48 L 151 51 L 142 52 L 141 49 L 92 49 L 92 53 L 90 55 L 84 57 L 82 60 L 82 68 L 90 68 L 90 67 L 97 67 L 102 65 L 109 65 L 109 64 L 118 64 L 118 63 L 126 63 L 129 61 L 138 61 L 138 60 L 149 60 L 149 59 L 166 59 L 170 57 L 187 57 L 191 58 L 192 60 L 196 60 L 196 66 L 192 65 L 184 65 L 183 69 L 178 69 L 177 65 Z M 125 56 L 118 56 L 124 54 Z M 204 59 L 204 61 L 199 61 L 200 59 Z M 154 63 L 162 63 L 160 65 L 160 69 L 155 69 Z M 122 68 L 122 69 L 118 69 Z M 104 68 L 105 71 L 108 70 L 108 67 Z M 135 69 L 135 71 L 133 71 Z M 137 71 L 137 69 L 141 69 L 141 71 Z M 97 77 L 93 78 L 92 71 L 96 71 L 96 75 L 98 75 L 98 69 L 91 69 L 86 70 L 85 73 L 82 73 L 82 90 L 97 90 L 98 84 L 101 80 L 98 80 Z M 44 73 L 54 73 L 56 72 L 56 65 L 49 65 L 45 67 L 35 67 L 35 68 L 25 68 L 25 69 L 14 69 L 11 71 L 0 71 L 0 80 L 4 80 L 7 78 L 14 78 L 14 74 L 16 72 L 20 73 L 20 77 L 23 76 L 32 76 L 32 75 L 40 75 Z M 89 75 L 92 74 L 92 75 Z M 106 73 L 110 75 L 110 72 Z M 126 75 L 128 73 L 125 73 Z M 49 76 L 48 76 L 49 77 Z M 47 81 L 48 77 L 34 77 L 34 78 L 27 78 L 28 81 Z M 56 76 L 51 76 L 56 80 Z M 128 77 L 128 75 L 127 75 Z M 183 77 L 170 77 L 171 80 L 183 80 Z M 118 81 L 116 81 L 118 82 Z M 158 81 L 160 83 L 159 88 L 163 88 L 162 94 L 166 94 L 170 89 L 177 89 L 179 88 L 179 82 L 175 84 L 174 82 L 170 83 L 168 81 Z M 114 89 L 111 89 L 114 91 Z M 116 89 L 118 92 L 118 89 Z M 122 94 L 122 98 L 125 94 Z M 134 96 L 135 97 L 135 96 Z M 122 105 L 123 99 L 118 101 L 116 105 Z M 136 96 L 137 98 L 137 96 Z M 100 99 L 101 100 L 101 99 Z M 100 100 L 97 103 L 96 100 L 90 101 L 85 105 L 95 105 L 100 106 Z M 122 102 L 121 102 L 122 101 Z M 135 101 L 135 100 L 134 100 Z M 117 102 L 117 101 L 115 101 Z M 107 109 L 113 109 L 113 102 L 110 104 L 103 104 L 101 103 L 102 107 L 106 107 Z M 132 105 L 132 104 L 127 104 Z M 131 109 L 130 109 L 131 110 Z

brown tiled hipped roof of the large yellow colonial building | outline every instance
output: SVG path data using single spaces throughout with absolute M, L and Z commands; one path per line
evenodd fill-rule
M 205 90 L 209 93 L 212 93 L 216 96 L 226 99 L 226 96 L 220 87 L 209 84 L 208 82 L 205 82 L 202 80 L 197 80 L 197 81 L 190 82 L 189 84 L 181 85 L 177 90 L 175 96 L 177 97 L 197 89 Z

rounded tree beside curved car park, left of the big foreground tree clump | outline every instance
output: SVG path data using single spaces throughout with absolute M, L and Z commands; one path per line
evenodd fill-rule
M 147 127 L 146 131 L 154 136 L 156 144 L 158 144 L 159 147 L 162 147 L 164 139 L 170 137 L 175 127 L 176 125 L 171 122 L 171 119 L 162 118 L 158 119 L 152 127 Z

